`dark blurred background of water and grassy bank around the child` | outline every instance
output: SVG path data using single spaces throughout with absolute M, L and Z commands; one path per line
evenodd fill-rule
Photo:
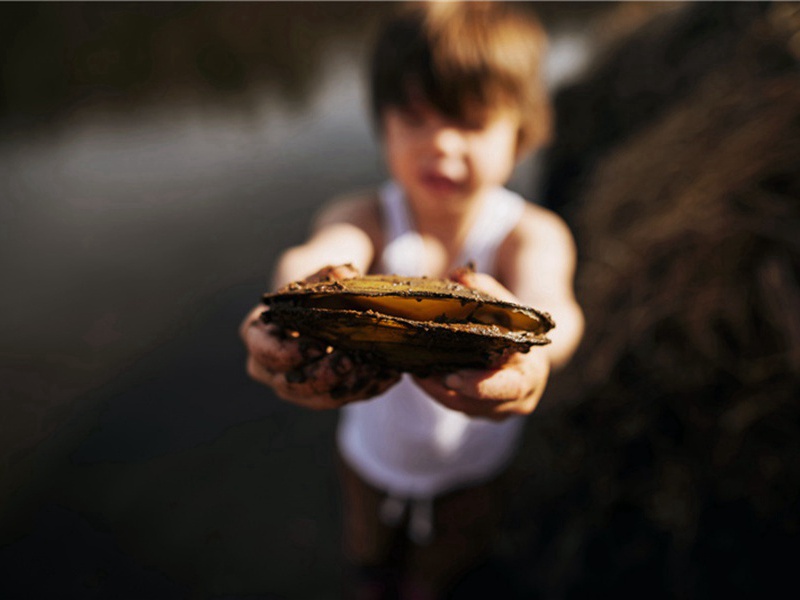
M 798 549 L 796 5 L 534 7 L 558 138 L 511 187 L 575 229 L 589 331 L 531 419 L 495 576 L 758 587 L 689 565 L 696 490 L 739 460 L 728 496 L 772 490 L 729 511 L 755 537 L 702 557 Z M 336 415 L 249 382 L 237 327 L 314 210 L 385 177 L 362 76 L 390 8 L 0 4 L 1 597 L 338 597 Z

